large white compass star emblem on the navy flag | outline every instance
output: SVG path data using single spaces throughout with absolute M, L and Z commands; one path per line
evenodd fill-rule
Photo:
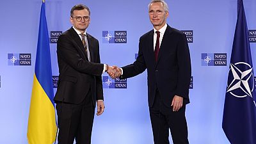
M 252 70 L 253 68 L 248 63 L 230 63 L 229 74 L 232 73 L 233 79 L 228 80 L 227 93 L 239 98 L 252 97 L 254 88 Z

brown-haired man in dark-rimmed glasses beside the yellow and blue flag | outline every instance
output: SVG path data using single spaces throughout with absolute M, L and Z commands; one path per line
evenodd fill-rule
M 59 144 L 90 144 L 93 117 L 104 112 L 101 75 L 114 72 L 100 63 L 99 42 L 86 33 L 90 9 L 77 4 L 70 11 L 72 28 L 59 36 L 57 56 L 58 89 L 54 97 L 58 114 Z

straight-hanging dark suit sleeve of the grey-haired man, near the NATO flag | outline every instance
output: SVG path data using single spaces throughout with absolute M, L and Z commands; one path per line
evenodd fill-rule
M 182 34 L 177 48 L 179 66 L 176 95 L 188 99 L 189 83 L 191 79 L 191 61 L 186 35 Z

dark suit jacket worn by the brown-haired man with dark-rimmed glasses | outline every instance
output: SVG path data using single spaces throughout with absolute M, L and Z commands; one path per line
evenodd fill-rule
M 96 100 L 103 100 L 102 71 L 100 64 L 99 42 L 87 33 L 90 58 L 88 61 L 83 43 L 73 28 L 59 36 L 57 55 L 59 82 L 55 101 L 79 104 L 89 90 L 92 92 L 93 105 Z

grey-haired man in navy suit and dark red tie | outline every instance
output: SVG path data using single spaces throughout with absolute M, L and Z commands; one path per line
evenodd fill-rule
M 154 29 L 140 37 L 138 58 L 131 65 L 115 66 L 121 79 L 137 76 L 147 68 L 148 106 L 155 144 L 188 144 L 185 117 L 189 103 L 191 61 L 186 35 L 166 24 L 168 5 L 163 0 L 148 4 Z M 115 75 L 111 75 L 115 77 Z

